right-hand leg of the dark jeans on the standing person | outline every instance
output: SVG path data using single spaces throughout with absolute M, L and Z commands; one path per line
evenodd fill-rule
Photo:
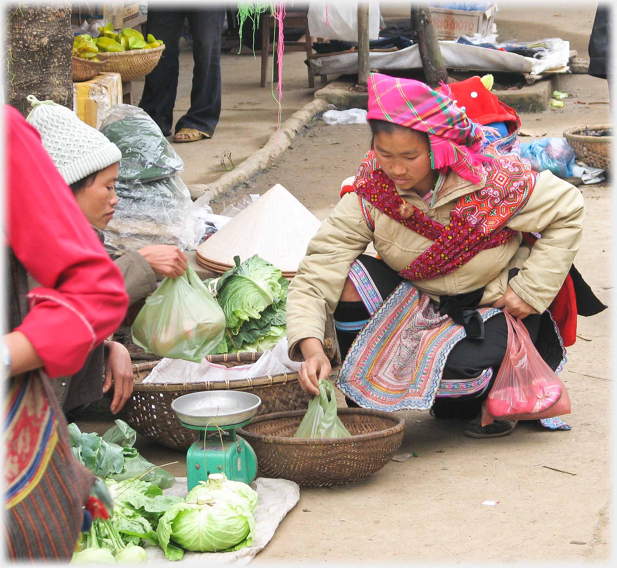
M 191 107 L 176 123 L 180 128 L 196 128 L 210 136 L 221 114 L 221 33 L 225 9 L 208 9 L 188 14 L 193 36 L 193 88 Z

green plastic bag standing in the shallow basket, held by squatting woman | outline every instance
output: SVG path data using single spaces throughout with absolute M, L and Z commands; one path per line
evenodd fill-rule
M 328 380 L 321 379 L 319 396 L 313 397 L 310 401 L 309 409 L 300 422 L 294 438 L 350 438 L 349 430 L 336 412 L 334 386 Z

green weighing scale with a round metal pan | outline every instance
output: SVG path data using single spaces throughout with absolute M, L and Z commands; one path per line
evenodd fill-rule
M 173 401 L 172 410 L 180 424 L 199 430 L 199 440 L 186 453 L 189 491 L 207 481 L 210 474 L 225 474 L 243 483 L 254 480 L 257 456 L 249 443 L 236 435 L 236 429 L 249 424 L 261 404 L 257 395 L 231 390 L 190 393 Z

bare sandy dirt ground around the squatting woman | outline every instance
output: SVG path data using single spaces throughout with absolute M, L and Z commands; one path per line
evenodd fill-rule
M 517 11 L 513 4 L 500 3 L 505 6 L 498 20 L 503 39 L 558 35 L 573 41 L 579 56 L 586 57 L 595 2 L 559 10 L 543 4 L 535 9 L 533 22 L 529 11 Z M 568 17 L 568 23 L 561 17 Z M 571 35 L 566 37 L 564 29 Z M 605 81 L 568 75 L 560 77 L 557 88 L 573 95 L 566 99 L 563 112 L 523 114 L 524 129 L 561 136 L 565 128 L 610 121 L 607 104 L 577 102 L 606 103 Z M 324 219 L 337 202 L 340 182 L 354 175 L 368 143 L 366 125 L 328 126 L 318 121 L 268 172 L 233 194 L 220 196 L 212 206 L 218 212 L 243 193 L 263 193 L 281 183 Z M 197 165 L 192 167 L 197 172 Z M 575 262 L 607 304 L 613 286 L 608 269 L 611 189 L 609 183 L 581 186 L 587 215 Z M 253 564 L 288 564 L 290 559 L 297 564 L 608 562 L 610 317 L 611 309 L 579 318 L 579 340 L 568 348 L 561 378 L 572 401 L 572 414 L 566 417 L 570 431 L 550 432 L 521 423 L 505 438 L 473 440 L 463 435 L 462 422 L 436 420 L 428 412 L 402 412 L 405 437 L 399 452 L 415 452 L 418 457 L 389 462 L 362 482 L 302 489 L 300 502 Z M 80 426 L 103 432 L 109 424 L 80 422 Z M 168 469 L 186 475 L 183 453 L 141 437 L 138 448 L 155 463 L 180 461 Z M 481 506 L 485 499 L 499 504 Z

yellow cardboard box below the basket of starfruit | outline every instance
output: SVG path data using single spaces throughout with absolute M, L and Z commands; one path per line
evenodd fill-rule
M 101 73 L 89 81 L 73 83 L 73 112 L 80 120 L 97 130 L 109 109 L 121 102 L 120 73 Z

